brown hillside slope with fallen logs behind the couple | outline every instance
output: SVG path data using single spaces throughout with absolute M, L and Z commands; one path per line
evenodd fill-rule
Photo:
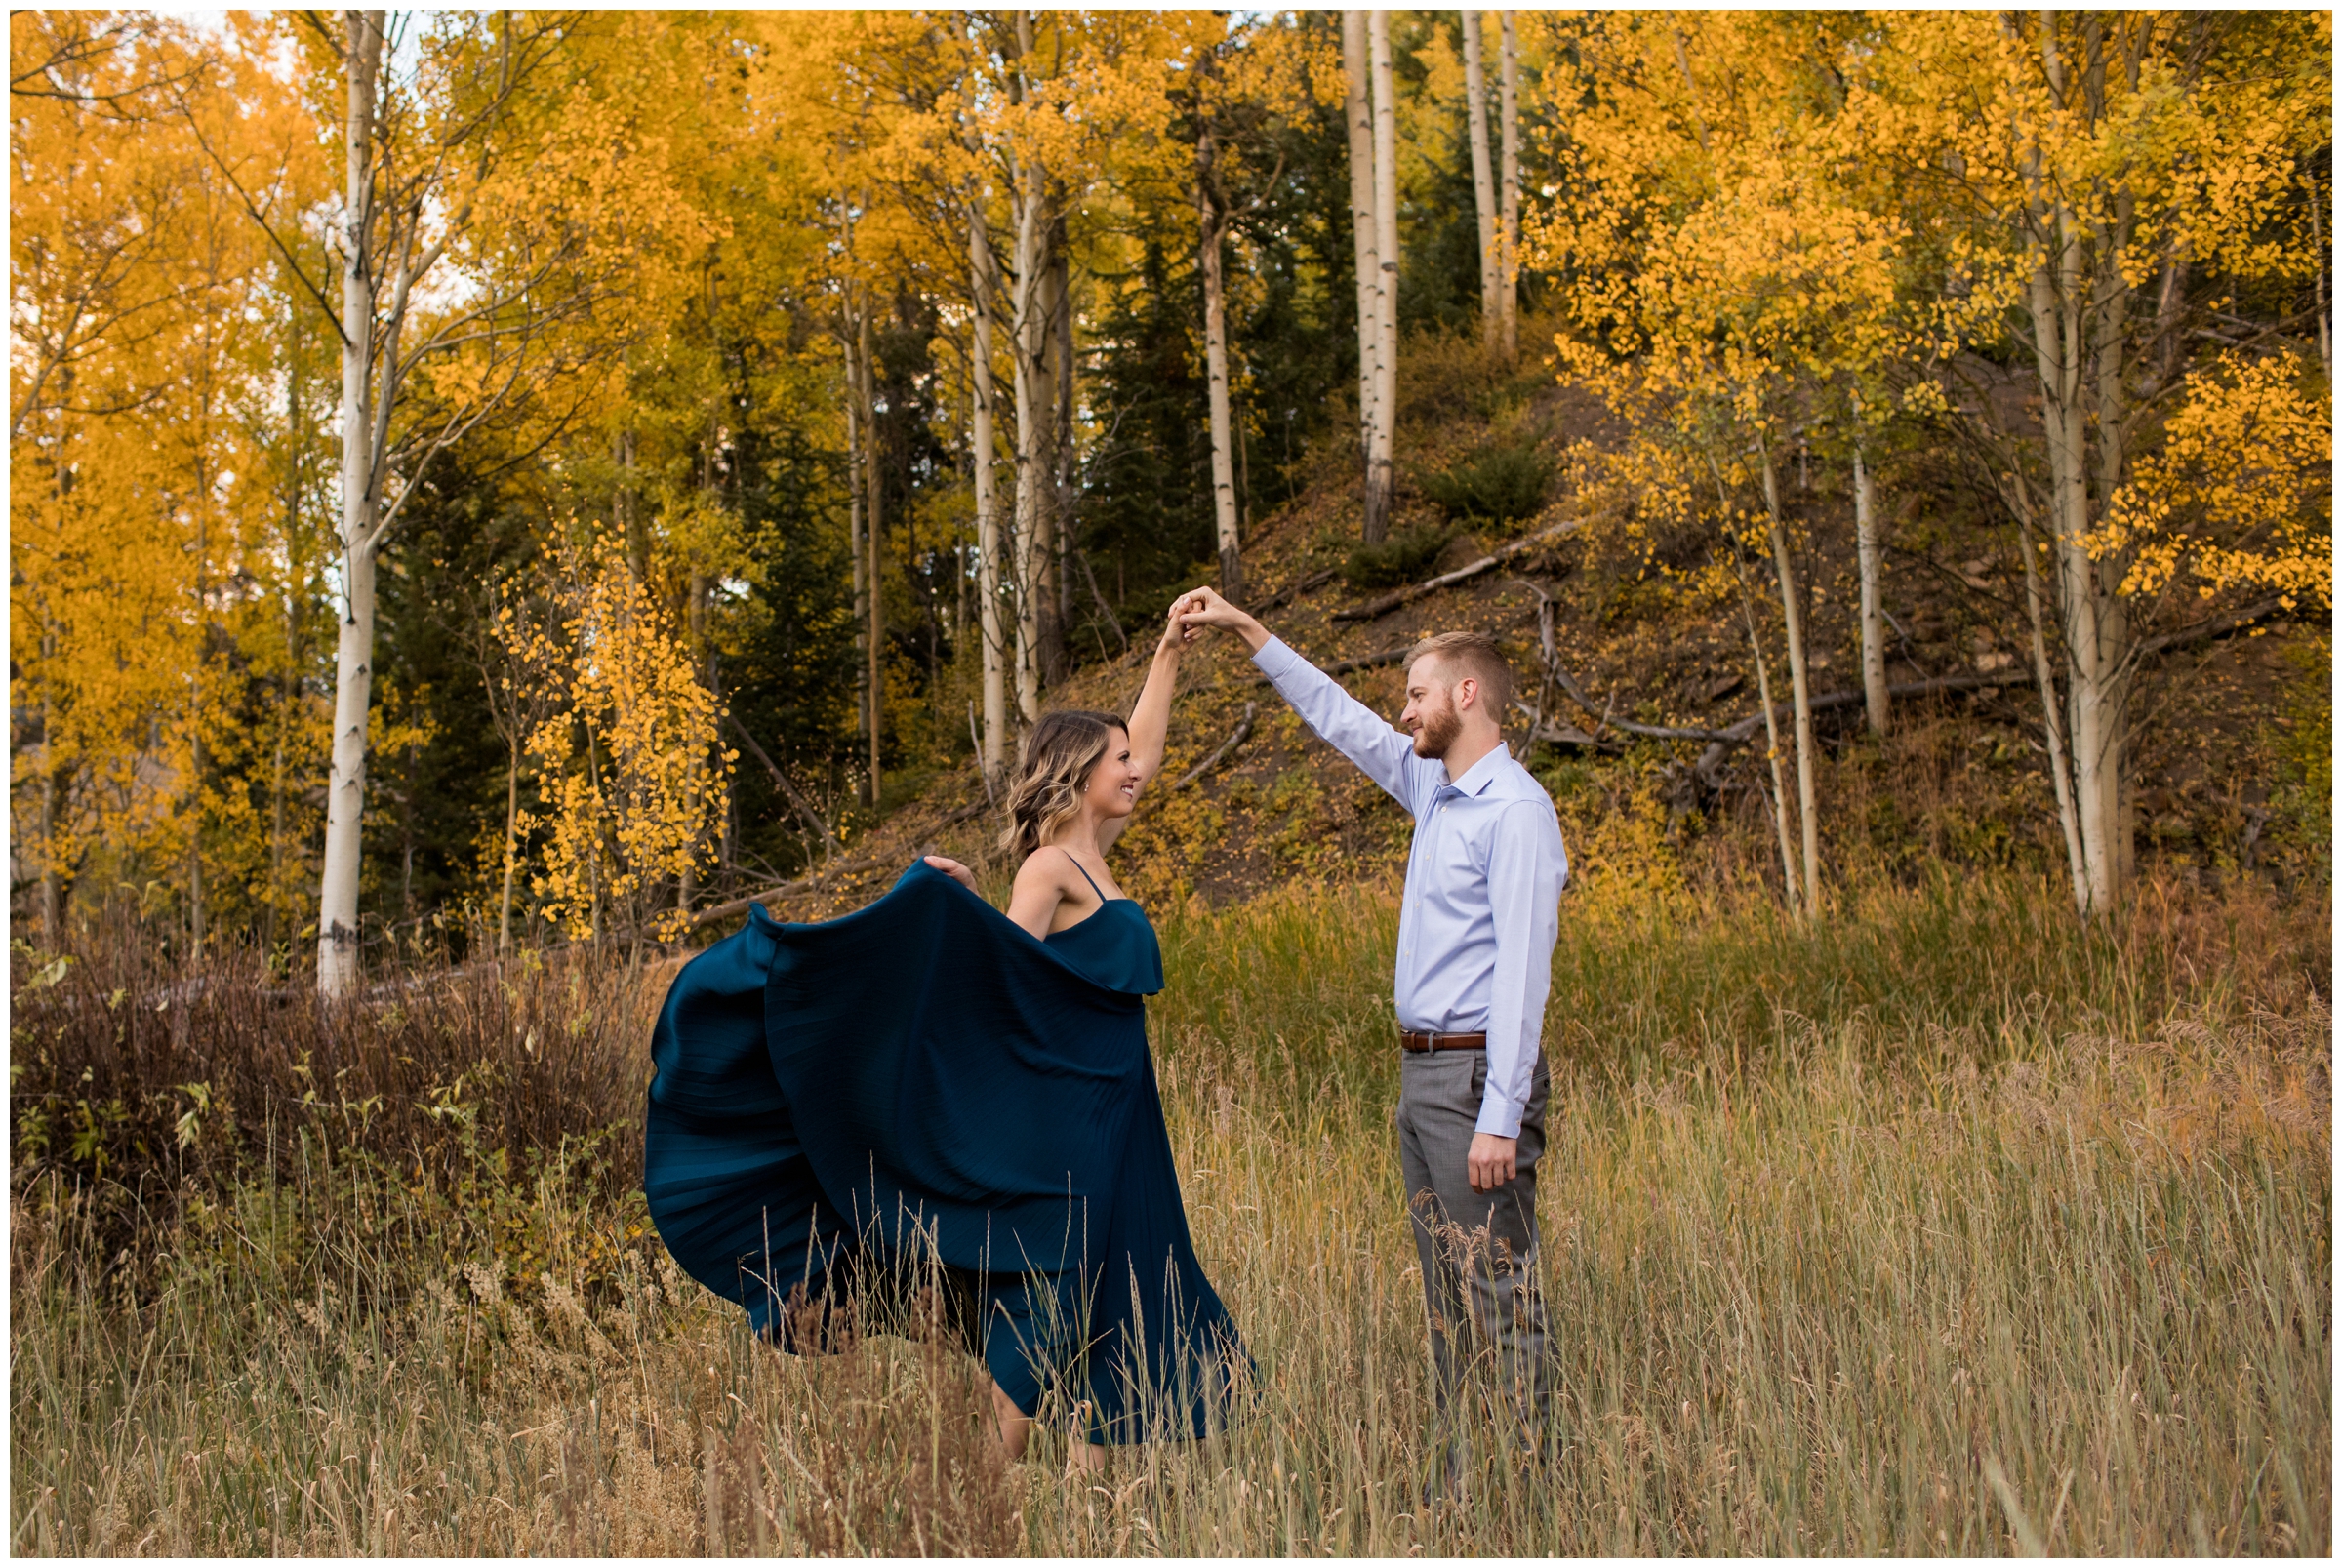
M 1588 456 L 1616 435 L 1607 414 L 1541 367 L 1506 377 L 1475 346 L 1445 342 L 1415 358 L 1401 431 L 1393 538 L 1429 550 L 1447 534 L 1445 545 L 1408 564 L 1410 578 L 1454 573 L 1492 552 L 1508 557 L 1363 613 L 1401 594 L 1356 585 L 1358 573 L 1344 571 L 1358 538 L 1358 477 L 1347 449 L 1319 452 L 1300 498 L 1246 538 L 1246 597 L 1262 620 L 1319 665 L 1349 665 L 1349 690 L 1393 716 L 1401 665 L 1375 655 L 1433 632 L 1492 632 L 1513 655 L 1522 700 L 1543 714 L 1534 742 L 1520 711 L 1506 735 L 1515 754 L 1527 742 L 1532 770 L 1555 793 L 1579 887 L 1740 873 L 1778 882 L 1738 601 L 1700 604 L 1686 590 L 1705 559 L 1703 541 L 1651 541 L 1623 527 L 1632 522 L 1632 496 L 1590 480 L 1600 466 Z M 1527 515 L 1487 524 L 1431 501 L 1426 491 L 1443 489 L 1443 473 L 1499 447 L 1534 447 L 1550 466 L 1541 503 Z M 1853 697 L 1853 543 L 1843 489 L 1829 484 L 1829 475 L 1808 470 L 1792 506 L 1813 538 L 1803 571 L 1815 690 Z M 1890 681 L 1934 690 L 1899 700 L 1883 742 L 1864 735 L 1860 700 L 1817 714 L 1824 875 L 1913 878 L 1937 864 L 2014 864 L 2063 878 L 2040 758 L 2040 697 L 2014 641 L 2023 625 L 2021 578 L 2007 524 L 1927 454 L 1909 454 L 1883 491 L 1902 496 L 1888 541 Z M 1197 580 L 1208 580 L 1208 569 Z M 1541 597 L 1553 599 L 1557 662 L 1583 704 L 1541 679 Z M 2286 758 L 2323 747 L 2326 630 L 2265 611 L 2246 627 L 2230 620 L 2206 613 L 2143 672 L 2141 864 L 2164 878 L 2274 875 L 2281 887 L 2321 896 L 2323 826 L 2305 791 L 2288 789 Z M 1787 733 L 1787 679 L 1773 637 L 1768 658 Z M 1049 704 L 1129 711 L 1150 648 L 1152 639 L 1134 632 L 1129 651 L 1077 669 Z M 1241 742 L 1180 786 L 1244 725 L 1248 704 L 1253 721 Z M 1696 730 L 1738 721 L 1756 737 L 1719 756 L 1703 742 L 1628 735 L 1616 721 Z M 794 920 L 843 913 L 883 892 L 920 852 L 991 864 L 998 826 L 979 772 L 963 763 L 829 871 L 766 903 Z M 1185 662 L 1164 775 L 1141 800 L 1115 861 L 1134 896 L 1218 906 L 1295 878 L 1377 880 L 1403 859 L 1405 843 L 1403 812 L 1302 730 L 1258 681 L 1239 641 L 1213 637 Z

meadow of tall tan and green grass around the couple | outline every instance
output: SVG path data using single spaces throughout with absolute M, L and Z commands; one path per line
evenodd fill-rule
M 782 1357 L 665 1261 L 630 1191 L 665 971 L 319 1020 L 21 960 L 12 1547 L 2333 1549 L 2323 908 L 2150 892 L 2084 938 L 2021 882 L 1813 931 L 1574 894 L 1560 1423 L 1433 1517 L 1393 901 L 1159 915 L 1171 1135 L 1260 1402 L 1096 1479 L 1005 1467 L 939 1341 Z

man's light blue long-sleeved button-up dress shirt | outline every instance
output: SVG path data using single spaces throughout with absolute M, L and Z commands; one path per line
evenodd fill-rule
M 1553 796 L 1501 742 L 1450 782 L 1445 763 L 1415 756 L 1405 730 L 1276 637 L 1253 662 L 1302 723 L 1415 817 L 1398 913 L 1398 1025 L 1485 1032 L 1487 1091 L 1475 1128 L 1520 1137 L 1569 880 Z

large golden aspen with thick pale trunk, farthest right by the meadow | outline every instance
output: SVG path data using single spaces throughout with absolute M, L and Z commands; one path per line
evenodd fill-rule
M 2316 293 L 2323 246 L 2279 215 L 2330 143 L 2330 54 L 2326 16 L 2052 9 L 1895 16 L 1848 73 L 1860 157 L 1899 176 L 1881 204 L 1953 260 L 1942 419 L 2007 475 L 2012 510 L 2014 477 L 2040 508 L 2084 917 L 2120 908 L 2131 878 L 2131 695 L 2178 580 L 2141 569 L 2159 548 L 2197 555 L 2169 531 L 2180 517 L 2251 538 L 2239 513 L 2143 498 L 2185 428 L 2173 405 L 2220 384 L 2197 344 L 2230 335 L 2230 290 Z M 2038 398 L 2019 424 L 1998 412 L 1993 367 L 2012 360 Z

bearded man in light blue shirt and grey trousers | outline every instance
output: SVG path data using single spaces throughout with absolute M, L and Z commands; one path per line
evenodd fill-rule
M 1208 587 L 1176 613 L 1180 625 L 1237 632 L 1293 711 L 1415 817 L 1398 915 L 1398 1158 L 1452 1488 L 1466 1322 L 1494 1341 L 1522 1437 L 1543 1432 L 1550 1404 L 1534 1266 L 1546 1147 L 1539 1041 L 1569 875 L 1553 796 L 1504 744 L 1513 674 L 1480 632 L 1415 646 L 1393 730 Z

